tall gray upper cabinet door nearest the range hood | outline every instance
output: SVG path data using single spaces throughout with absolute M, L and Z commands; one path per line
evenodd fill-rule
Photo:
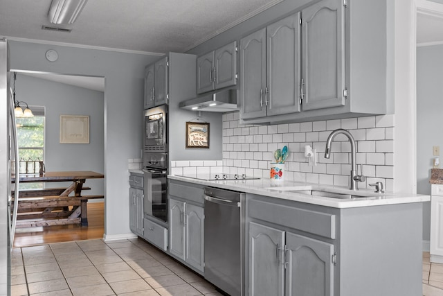
M 240 119 L 266 116 L 266 28 L 240 40 Z

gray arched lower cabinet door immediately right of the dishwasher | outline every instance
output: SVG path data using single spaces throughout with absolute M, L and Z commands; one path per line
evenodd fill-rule
M 284 295 L 283 247 L 283 231 L 249 223 L 248 295 Z

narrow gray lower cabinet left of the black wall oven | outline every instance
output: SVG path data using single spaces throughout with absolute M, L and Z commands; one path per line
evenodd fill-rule
M 129 228 L 143 236 L 143 175 L 131 173 L 129 184 Z

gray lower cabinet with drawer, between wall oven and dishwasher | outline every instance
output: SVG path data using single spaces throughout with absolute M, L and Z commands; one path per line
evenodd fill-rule
M 190 268 L 204 272 L 204 207 L 201 186 L 170 180 L 169 252 Z

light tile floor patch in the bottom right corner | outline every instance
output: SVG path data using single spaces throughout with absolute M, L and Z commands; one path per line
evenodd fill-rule
M 431 263 L 429 252 L 423 252 L 423 295 L 443 296 L 443 264 Z

